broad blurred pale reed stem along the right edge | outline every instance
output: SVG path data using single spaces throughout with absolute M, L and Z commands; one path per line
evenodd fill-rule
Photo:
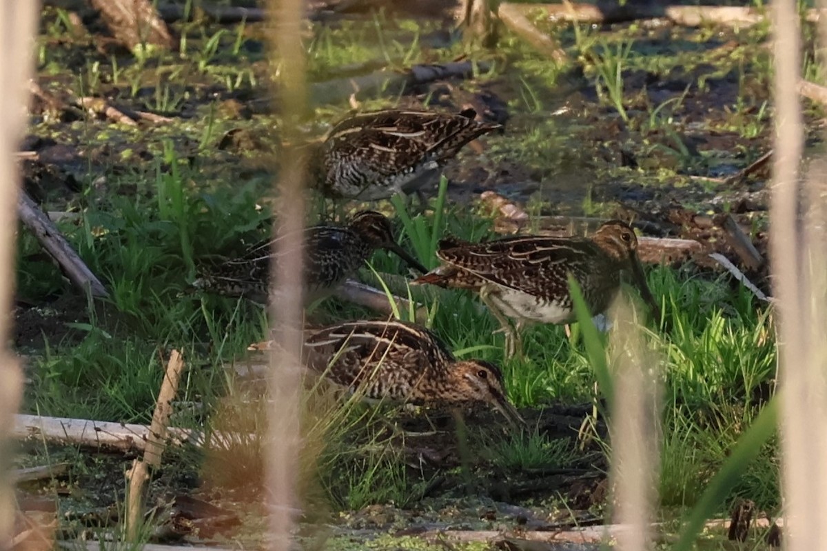
M 798 98 L 801 30 L 797 5 L 796 0 L 772 2 L 776 125 L 770 246 L 780 322 L 784 538 L 791 551 L 827 549 L 824 199 L 813 178 L 807 178 L 802 187 L 799 173 L 804 130 Z M 817 172 L 820 164 L 814 161 L 812 168 Z

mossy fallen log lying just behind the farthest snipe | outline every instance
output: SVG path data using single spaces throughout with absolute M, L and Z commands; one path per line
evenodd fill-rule
M 477 64 L 481 71 L 488 70 L 489 65 Z M 315 105 L 340 103 L 351 96 L 364 96 L 377 91 L 400 93 L 411 86 L 428 84 L 434 80 L 466 78 L 473 74 L 471 61 L 457 61 L 445 65 L 414 65 L 406 73 L 375 71 L 362 76 L 332 79 L 310 86 L 310 98 Z

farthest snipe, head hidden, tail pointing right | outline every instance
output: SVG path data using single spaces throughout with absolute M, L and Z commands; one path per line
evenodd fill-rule
M 338 122 L 308 161 L 313 180 L 331 198 L 375 201 L 417 193 L 468 142 L 500 128 L 457 114 L 385 109 Z

